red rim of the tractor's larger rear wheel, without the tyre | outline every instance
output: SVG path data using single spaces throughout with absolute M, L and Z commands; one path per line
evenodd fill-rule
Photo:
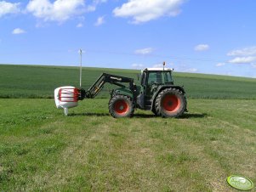
M 180 107 L 180 100 L 176 95 L 168 94 L 162 99 L 162 107 L 167 112 L 176 112 Z

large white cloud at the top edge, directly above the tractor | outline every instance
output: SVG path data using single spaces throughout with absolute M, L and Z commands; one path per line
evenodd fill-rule
M 121 7 L 115 8 L 117 17 L 132 17 L 134 24 L 156 20 L 162 16 L 176 16 L 185 0 L 128 0 Z

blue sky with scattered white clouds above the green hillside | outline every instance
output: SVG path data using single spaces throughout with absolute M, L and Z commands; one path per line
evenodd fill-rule
M 255 0 L 0 0 L 0 63 L 256 78 Z

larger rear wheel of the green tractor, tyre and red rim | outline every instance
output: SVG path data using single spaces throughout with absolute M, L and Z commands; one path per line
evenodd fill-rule
M 186 110 L 184 93 L 176 88 L 166 88 L 156 97 L 156 113 L 162 117 L 179 117 Z

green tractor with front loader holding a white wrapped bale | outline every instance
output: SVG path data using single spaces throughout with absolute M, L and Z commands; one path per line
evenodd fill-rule
M 107 82 L 120 87 L 111 91 L 109 101 L 109 112 L 114 118 L 132 117 L 137 108 L 151 110 L 156 116 L 179 117 L 187 111 L 185 90 L 174 85 L 173 69 L 164 65 L 141 71 L 139 86 L 133 78 L 103 73 L 88 91 L 71 86 L 56 88 L 56 106 L 64 109 L 67 116 L 68 108 L 76 107 L 79 100 L 94 99 Z

